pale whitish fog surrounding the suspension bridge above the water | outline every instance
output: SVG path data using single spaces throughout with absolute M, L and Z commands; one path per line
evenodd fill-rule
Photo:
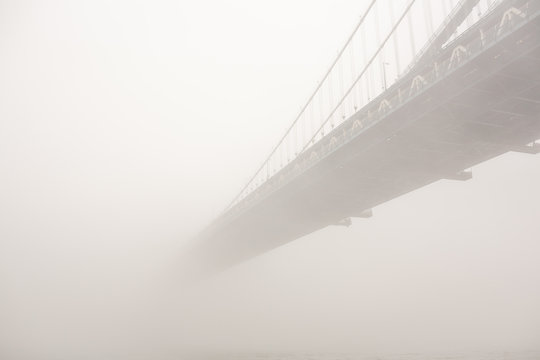
M 366 3 L 0 2 L 0 358 L 540 351 L 534 155 L 180 281 Z

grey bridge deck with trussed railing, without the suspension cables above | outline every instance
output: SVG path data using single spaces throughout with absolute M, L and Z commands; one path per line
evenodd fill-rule
M 513 8 L 509 12 L 509 9 Z M 220 266 L 540 138 L 540 3 L 507 1 L 197 239 Z

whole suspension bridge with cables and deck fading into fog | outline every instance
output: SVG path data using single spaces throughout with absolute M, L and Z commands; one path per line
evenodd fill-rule
M 369 3 L 192 256 L 230 266 L 435 181 L 470 179 L 505 152 L 539 152 L 540 2 L 419 3 Z

